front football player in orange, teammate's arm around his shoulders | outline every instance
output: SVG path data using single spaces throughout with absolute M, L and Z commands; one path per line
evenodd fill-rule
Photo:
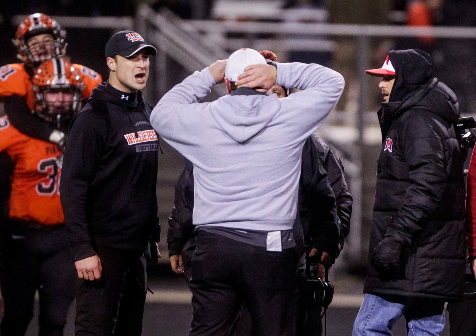
M 65 130 L 81 107 L 83 77 L 64 58 L 50 58 L 32 76 L 34 111 Z M 40 294 L 40 336 L 63 335 L 74 299 L 75 267 L 60 203 L 62 152 L 0 118 L 0 151 L 14 162 L 8 221 L 2 226 L 1 335 L 24 335 Z

